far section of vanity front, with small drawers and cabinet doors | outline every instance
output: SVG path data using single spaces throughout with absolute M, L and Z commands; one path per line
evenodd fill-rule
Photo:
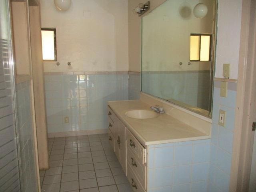
M 126 127 L 108 108 L 108 135 L 110 144 L 126 174 Z

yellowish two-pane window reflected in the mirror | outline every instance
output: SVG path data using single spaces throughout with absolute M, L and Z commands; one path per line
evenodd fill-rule
M 211 35 L 190 34 L 190 61 L 210 61 Z

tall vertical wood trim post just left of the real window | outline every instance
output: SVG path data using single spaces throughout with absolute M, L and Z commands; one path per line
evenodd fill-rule
M 46 107 L 44 98 L 44 66 L 42 59 L 40 6 L 30 6 L 29 16 L 39 169 L 46 170 L 49 168 L 49 164 Z

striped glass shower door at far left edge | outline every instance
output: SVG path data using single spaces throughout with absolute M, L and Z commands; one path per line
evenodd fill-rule
M 18 192 L 18 142 L 14 118 L 14 70 L 8 0 L 0 1 L 0 191 Z

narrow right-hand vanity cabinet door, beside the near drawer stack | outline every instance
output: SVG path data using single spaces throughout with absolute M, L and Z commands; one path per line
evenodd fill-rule
M 120 164 L 126 174 L 126 127 L 120 122 L 118 128 L 120 136 Z

